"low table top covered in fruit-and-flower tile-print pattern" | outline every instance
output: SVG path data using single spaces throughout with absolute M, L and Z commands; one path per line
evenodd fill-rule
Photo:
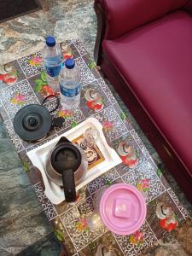
M 188 217 L 188 212 L 177 200 L 165 177 L 154 164 L 84 46 L 79 40 L 73 40 L 62 43 L 61 49 L 64 57 L 73 55 L 81 73 L 83 86 L 80 107 L 73 112 L 60 107 L 52 113 L 64 117 L 66 121 L 61 128 L 50 131 L 49 136 L 41 142 L 26 143 L 15 134 L 15 113 L 27 104 L 41 103 L 45 96 L 52 94 L 45 79 L 41 54 L 38 52 L 13 61 L 0 70 L 0 113 L 4 125 L 20 155 L 24 170 L 32 182 L 44 213 L 55 230 L 55 235 L 60 241 L 65 241 L 69 255 L 95 255 L 102 246 L 106 247 L 107 251 L 113 251 L 113 255 L 137 255 L 143 249 L 153 246 L 161 236 L 174 230 L 183 218 Z M 89 100 L 87 95 L 90 90 L 97 93 L 99 102 Z M 55 108 L 55 104 L 55 100 L 52 99 L 46 103 L 46 107 L 50 110 Z M 136 159 L 131 162 L 126 156 L 121 156 L 122 164 L 80 189 L 79 200 L 75 205 L 68 205 L 65 201 L 60 205 L 53 205 L 44 195 L 41 174 L 32 166 L 26 152 L 60 136 L 89 116 L 102 123 L 108 143 L 114 149 L 117 150 L 121 142 L 127 142 L 134 148 Z M 84 216 L 93 210 L 93 196 L 96 190 L 101 189 L 106 183 L 110 185 L 122 182 L 136 186 L 146 198 L 148 213 L 142 228 L 131 236 L 118 236 L 105 228 L 100 228 L 96 232 L 90 231 L 84 222 Z M 160 214 L 160 210 L 165 214 Z

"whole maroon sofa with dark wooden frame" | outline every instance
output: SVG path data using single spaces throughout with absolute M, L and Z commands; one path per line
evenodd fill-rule
M 95 59 L 192 201 L 192 0 L 95 0 Z

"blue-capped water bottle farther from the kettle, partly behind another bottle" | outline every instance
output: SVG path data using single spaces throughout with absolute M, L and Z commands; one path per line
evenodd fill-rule
M 58 76 L 64 61 L 60 44 L 55 43 L 54 37 L 48 36 L 46 38 L 42 56 L 48 84 L 53 90 L 58 90 Z

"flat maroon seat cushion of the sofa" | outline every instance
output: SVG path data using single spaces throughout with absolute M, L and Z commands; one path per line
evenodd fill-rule
M 102 46 L 192 177 L 192 16 L 172 13 Z

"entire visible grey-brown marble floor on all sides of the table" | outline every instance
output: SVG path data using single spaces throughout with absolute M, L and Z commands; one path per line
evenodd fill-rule
M 0 24 L 0 64 L 41 49 L 47 34 L 55 35 L 58 41 L 79 38 L 92 57 L 96 38 L 93 0 L 55 0 L 47 12 L 39 10 Z M 113 90 L 113 86 L 109 86 Z M 113 93 L 179 200 L 192 216 L 192 207 L 183 192 L 166 170 L 118 94 L 114 90 Z M 192 255 L 192 245 L 187 238 L 179 238 L 183 237 L 182 232 L 186 232 L 186 229 L 191 232 L 189 237 L 192 236 L 191 222 L 183 224 L 181 229 L 183 231 L 180 230 L 180 236 L 175 233 L 172 237 L 166 237 L 143 255 L 176 255 L 176 252 L 183 256 Z M 60 243 L 56 241 L 49 227 L 19 157 L 3 129 L 3 123 L 0 122 L 0 255 L 49 256 L 59 255 L 60 249 Z

